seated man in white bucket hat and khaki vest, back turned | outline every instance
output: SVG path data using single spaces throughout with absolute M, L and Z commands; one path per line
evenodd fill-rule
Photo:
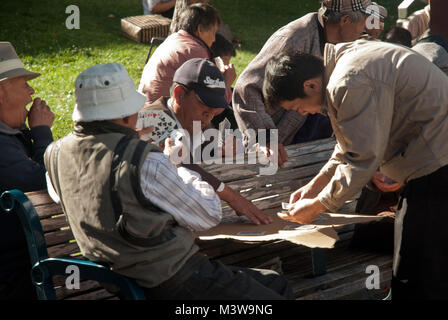
M 151 299 L 292 298 L 273 271 L 225 266 L 198 254 L 190 229 L 219 223 L 204 210 L 219 214 L 219 200 L 214 192 L 195 196 L 200 188 L 184 183 L 159 147 L 138 139 L 145 96 L 123 66 L 90 67 L 75 87 L 74 130 L 48 147 L 45 163 L 85 257 L 135 279 Z M 165 179 L 169 188 L 152 187 Z M 184 199 L 178 208 L 167 204 L 174 198 Z

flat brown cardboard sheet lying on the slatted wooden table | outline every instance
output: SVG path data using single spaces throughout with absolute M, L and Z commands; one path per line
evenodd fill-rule
M 265 211 L 274 222 L 268 225 L 255 225 L 245 217 L 227 217 L 218 226 L 197 232 L 201 240 L 234 239 L 239 241 L 286 240 L 310 248 L 333 248 L 339 240 L 336 227 L 350 224 L 380 221 L 384 217 L 322 213 L 311 224 L 301 225 L 277 217 L 278 210 Z M 232 221 L 233 220 L 233 221 Z

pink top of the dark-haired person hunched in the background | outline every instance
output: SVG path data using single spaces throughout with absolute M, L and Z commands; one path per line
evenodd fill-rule
M 143 69 L 138 91 L 146 95 L 146 103 L 153 103 L 160 97 L 169 97 L 177 68 L 193 58 L 211 58 L 205 43 L 185 30 L 179 30 L 166 38 Z M 230 88 L 226 88 L 226 100 L 230 102 L 231 98 Z

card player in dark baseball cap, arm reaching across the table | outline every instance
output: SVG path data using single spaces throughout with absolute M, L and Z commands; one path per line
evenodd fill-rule
M 192 137 L 190 150 L 204 141 L 202 132 L 194 132 L 193 122 L 200 121 L 204 130 L 211 120 L 226 108 L 230 108 L 225 99 L 225 82 L 218 67 L 207 59 L 194 58 L 187 60 L 174 74 L 171 86 L 171 97 L 161 97 L 154 103 L 146 104 L 144 110 L 163 110 L 176 120 L 176 129 L 186 130 Z M 194 137 L 194 134 L 201 136 Z M 268 224 L 272 220 L 258 209 L 252 202 L 238 192 L 225 185 L 218 178 L 206 172 L 196 164 L 183 164 L 184 167 L 198 172 L 216 191 L 221 200 L 226 201 L 237 214 L 246 215 L 254 223 Z

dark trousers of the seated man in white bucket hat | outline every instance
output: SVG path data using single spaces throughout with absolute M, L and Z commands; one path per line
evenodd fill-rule
M 275 271 L 226 266 L 200 254 L 171 279 L 144 291 L 151 300 L 294 299 L 286 279 Z

